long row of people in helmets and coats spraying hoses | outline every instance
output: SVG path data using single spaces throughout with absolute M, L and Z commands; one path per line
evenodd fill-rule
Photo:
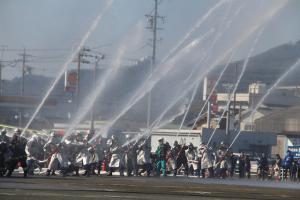
M 95 138 L 92 140 L 92 138 Z M 66 139 L 51 132 L 47 139 L 39 136 L 24 138 L 21 130 L 11 137 L 7 131 L 0 136 L 0 176 L 10 177 L 13 171 L 23 168 L 24 177 L 34 175 L 46 168 L 46 176 L 60 173 L 62 176 L 91 176 L 106 174 L 120 176 L 195 176 L 199 178 L 251 178 L 253 159 L 244 153 L 230 152 L 224 142 L 218 148 L 177 141 L 171 146 L 163 138 L 157 149 L 151 149 L 149 136 L 133 138 L 126 135 L 125 141 L 112 135 L 110 138 L 95 137 L 95 132 L 71 134 Z M 155 150 L 155 151 L 154 151 Z M 262 153 L 256 160 L 258 179 L 300 181 L 300 160 L 290 151 L 281 159 L 270 161 Z M 237 174 L 237 175 L 235 175 Z

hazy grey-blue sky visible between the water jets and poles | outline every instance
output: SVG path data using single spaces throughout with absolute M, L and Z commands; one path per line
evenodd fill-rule
M 163 30 L 158 32 L 158 58 L 163 57 L 187 30 L 218 2 L 158 1 L 159 14 L 165 17 L 164 22 L 159 22 L 159 27 Z M 0 59 L 19 60 L 19 54 L 26 48 L 26 52 L 32 56 L 28 57 L 28 65 L 33 67 L 33 73 L 53 76 L 101 12 L 104 4 L 105 0 L 0 0 Z M 147 27 L 145 15 L 153 13 L 153 6 L 154 0 L 115 0 L 86 45 L 106 54 L 109 60 L 122 37 L 138 21 L 143 20 Z M 218 10 L 220 13 L 224 11 L 225 8 Z M 267 24 L 255 54 L 280 44 L 300 40 L 299 11 L 300 1 L 290 0 Z M 124 62 L 150 56 L 151 46 L 147 45 L 148 39 L 151 39 L 150 32 L 147 32 L 144 42 L 138 49 L 132 50 L 132 54 Z M 241 50 L 236 59 L 242 59 L 245 55 Z M 13 64 L 14 67 L 6 66 L 3 69 L 3 79 L 21 75 L 21 63 Z M 105 62 L 103 64 L 105 65 Z

